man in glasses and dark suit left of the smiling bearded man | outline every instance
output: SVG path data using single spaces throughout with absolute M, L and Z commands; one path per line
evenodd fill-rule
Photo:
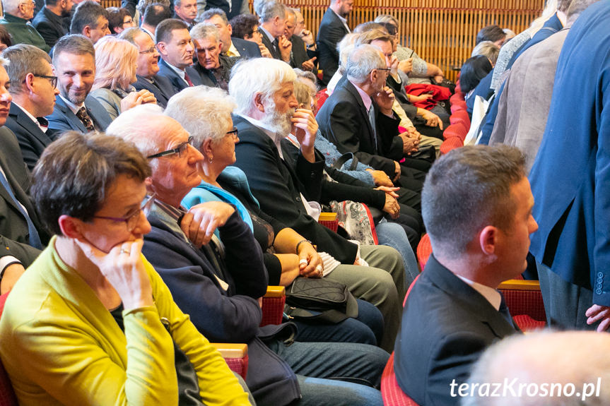
M 53 139 L 45 116 L 53 112 L 59 95 L 57 76 L 53 76 L 49 55 L 33 45 L 13 45 L 2 56 L 11 62 L 6 71 L 13 96 L 6 126 L 17 136 L 23 159 L 32 170 Z

